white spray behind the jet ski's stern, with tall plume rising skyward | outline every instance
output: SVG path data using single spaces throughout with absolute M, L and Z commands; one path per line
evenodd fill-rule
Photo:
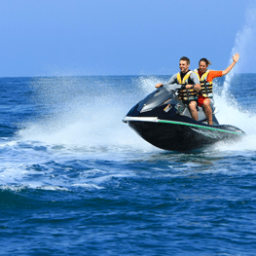
M 232 49 L 230 63 L 233 61 L 232 55 L 238 53 L 240 58 L 236 66 L 225 77 L 221 96 L 215 95 L 216 105 L 221 109 L 217 118 L 221 124 L 230 124 L 241 128 L 246 132 L 246 137 L 236 144 L 223 145 L 223 150 L 256 150 L 256 115 L 248 110 L 242 110 L 237 102 L 230 98 L 228 91 L 231 88 L 234 74 L 238 72 L 246 73 L 248 66 L 256 65 L 256 8 L 250 7 L 246 13 L 246 22 L 242 30 L 238 31 L 235 47 Z M 253 70 L 256 72 L 256 69 Z M 243 90 L 242 85 L 240 85 Z

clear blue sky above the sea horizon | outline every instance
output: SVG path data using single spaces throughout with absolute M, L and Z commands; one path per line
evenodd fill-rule
M 173 74 L 183 55 L 222 70 L 236 50 L 256 73 L 253 2 L 0 0 L 0 77 Z

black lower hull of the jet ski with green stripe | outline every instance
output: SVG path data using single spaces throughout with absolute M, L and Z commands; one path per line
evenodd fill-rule
M 152 145 L 170 151 L 201 149 L 218 141 L 235 141 L 244 132 L 232 126 L 207 126 L 176 121 L 128 121 L 143 139 Z

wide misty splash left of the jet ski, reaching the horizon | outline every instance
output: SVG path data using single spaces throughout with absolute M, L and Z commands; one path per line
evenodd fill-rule
M 89 150 L 148 150 L 148 143 L 122 122 L 128 110 L 147 93 L 145 83 L 137 79 L 132 90 L 130 78 L 128 82 L 120 77 L 42 78 L 33 84 L 35 103 L 44 106 L 42 116 L 24 124 L 18 137 Z M 148 90 L 152 91 L 151 87 Z

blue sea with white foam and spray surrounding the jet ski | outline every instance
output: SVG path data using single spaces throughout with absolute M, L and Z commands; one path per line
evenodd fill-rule
M 122 123 L 169 76 L 1 78 L 1 255 L 255 255 L 256 74 L 215 83 L 247 136 L 194 153 Z

